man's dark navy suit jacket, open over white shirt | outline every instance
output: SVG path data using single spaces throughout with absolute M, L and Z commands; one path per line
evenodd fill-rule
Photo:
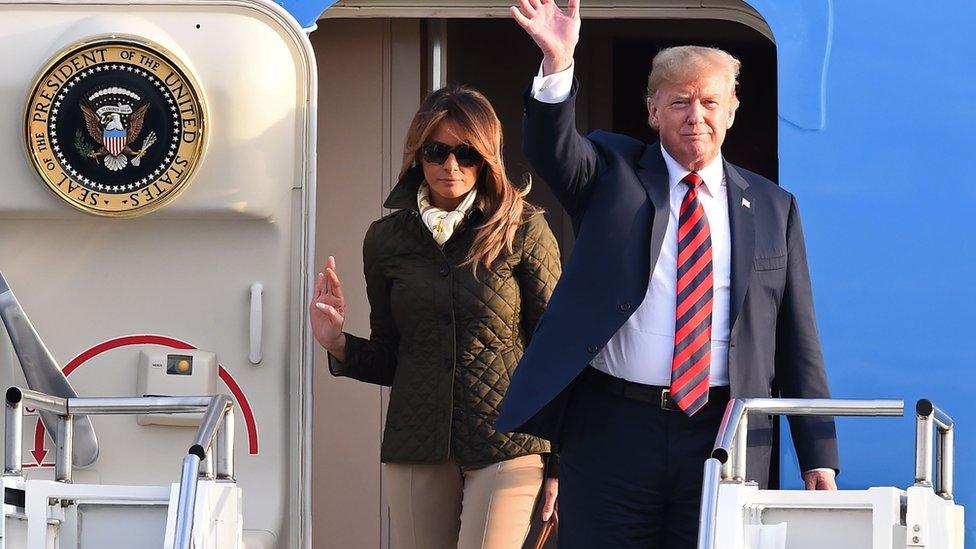
M 660 145 L 576 131 L 566 101 L 526 99 L 532 166 L 573 221 L 569 263 L 516 368 L 495 421 L 558 445 L 572 382 L 641 304 L 670 215 Z M 829 398 L 796 200 L 725 163 L 732 240 L 729 379 L 732 397 Z M 839 470 L 830 418 L 791 418 L 801 470 Z M 749 420 L 748 473 L 765 485 L 772 418 Z

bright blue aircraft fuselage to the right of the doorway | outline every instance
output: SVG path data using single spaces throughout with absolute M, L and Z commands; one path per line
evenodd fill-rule
M 780 49 L 780 36 L 806 28 L 788 24 L 802 12 L 750 3 L 777 37 L 781 116 L 795 112 L 808 99 L 796 87 L 818 88 L 784 66 Z M 976 303 L 976 256 L 967 242 L 976 229 L 969 182 L 976 5 L 823 4 L 829 20 L 814 22 L 815 34 L 831 36 L 823 125 L 782 118 L 779 160 L 780 182 L 797 195 L 803 216 L 833 394 L 904 399 L 908 410 L 932 399 L 955 420 L 955 459 L 967 463 L 976 455 L 976 439 L 964 434 L 976 422 L 969 394 L 976 350 L 966 337 Z M 841 486 L 910 484 L 914 419 L 839 420 Z M 784 440 L 783 485 L 797 487 Z M 974 493 L 973 471 L 957 467 L 956 501 L 971 504 Z M 976 547 L 976 528 L 966 533 L 966 547 Z

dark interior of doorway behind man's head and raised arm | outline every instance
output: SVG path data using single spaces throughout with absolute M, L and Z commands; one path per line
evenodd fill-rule
M 695 19 L 590 19 L 576 50 L 580 80 L 578 129 L 610 130 L 645 142 L 657 140 L 647 124 L 644 95 L 651 59 L 662 48 L 698 44 L 722 48 L 742 61 L 741 106 L 722 153 L 732 163 L 777 181 L 776 46 L 759 31 L 732 21 Z M 522 154 L 522 103 L 542 59 L 512 20 L 447 20 L 447 81 L 478 88 L 491 100 L 505 129 L 505 161 L 518 180 L 531 173 Z M 544 184 L 529 199 L 543 206 L 563 257 L 572 227 Z

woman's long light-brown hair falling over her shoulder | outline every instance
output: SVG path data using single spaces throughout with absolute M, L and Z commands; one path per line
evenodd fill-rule
M 471 265 L 473 269 L 483 265 L 492 270 L 492 265 L 503 251 L 512 253 L 512 243 L 519 226 L 530 215 L 541 210 L 524 199 L 531 184 L 518 189 L 505 172 L 502 125 L 495 115 L 495 109 L 481 92 L 467 86 L 451 84 L 431 93 L 424 100 L 407 132 L 400 177 L 423 161 L 421 146 L 437 125 L 444 121 L 454 123 L 461 134 L 458 137 L 485 159 L 476 183 L 485 222 L 478 227 L 464 264 Z

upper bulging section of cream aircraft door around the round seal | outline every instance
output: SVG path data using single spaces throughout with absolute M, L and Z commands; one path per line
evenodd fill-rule
M 234 6 L 194 13 L 197 10 L 185 7 L 134 5 L 124 14 L 112 6 L 46 6 L 33 16 L 47 30 L 25 35 L 24 23 L 31 20 L 31 12 L 23 6 L 10 10 L 10 17 L 0 21 L 0 44 L 16 48 L 21 55 L 11 59 L 0 75 L 4 104 L 26 106 L 30 85 L 43 63 L 64 47 L 92 36 L 148 38 L 196 75 L 212 122 L 210 135 L 221 136 L 208 142 L 196 177 L 215 183 L 191 184 L 180 200 L 156 212 L 156 217 L 267 219 L 273 215 L 266 207 L 274 200 L 272 194 L 287 193 L 293 182 L 304 178 L 306 151 L 297 145 L 307 133 L 301 121 L 309 101 L 310 76 L 302 66 L 308 61 L 299 63 L 300 48 L 289 33 L 271 26 L 274 19 L 255 17 L 253 10 Z M 227 33 L 246 37 L 248 48 L 207 38 Z M 36 176 L 30 163 L 24 162 L 24 139 L 18 131 L 23 127 L 23 111 L 5 112 L 9 130 L 0 136 L 0 160 L 18 180 L 33 181 Z M 72 210 L 49 200 L 48 192 L 38 185 L 12 188 L 0 204 L 0 217 L 70 218 Z

